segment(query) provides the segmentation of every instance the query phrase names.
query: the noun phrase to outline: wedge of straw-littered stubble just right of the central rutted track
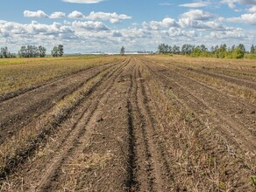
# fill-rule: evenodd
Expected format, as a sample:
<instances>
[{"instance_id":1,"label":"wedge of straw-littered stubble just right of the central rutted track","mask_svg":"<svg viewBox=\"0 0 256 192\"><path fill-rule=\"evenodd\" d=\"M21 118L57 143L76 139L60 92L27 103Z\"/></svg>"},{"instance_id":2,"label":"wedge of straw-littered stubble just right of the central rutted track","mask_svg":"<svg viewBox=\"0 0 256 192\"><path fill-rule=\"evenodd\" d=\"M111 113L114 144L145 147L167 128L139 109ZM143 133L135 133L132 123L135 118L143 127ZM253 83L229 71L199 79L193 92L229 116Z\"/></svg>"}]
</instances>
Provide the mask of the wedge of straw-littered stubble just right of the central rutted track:
<instances>
[{"instance_id":1,"label":"wedge of straw-littered stubble just right of the central rutted track","mask_svg":"<svg viewBox=\"0 0 256 192\"><path fill-rule=\"evenodd\" d=\"M253 161L235 150L208 121L201 121L174 93L160 85L150 72L149 82L160 141L174 176L174 190L232 191L252 189Z\"/></svg>"}]
</instances>

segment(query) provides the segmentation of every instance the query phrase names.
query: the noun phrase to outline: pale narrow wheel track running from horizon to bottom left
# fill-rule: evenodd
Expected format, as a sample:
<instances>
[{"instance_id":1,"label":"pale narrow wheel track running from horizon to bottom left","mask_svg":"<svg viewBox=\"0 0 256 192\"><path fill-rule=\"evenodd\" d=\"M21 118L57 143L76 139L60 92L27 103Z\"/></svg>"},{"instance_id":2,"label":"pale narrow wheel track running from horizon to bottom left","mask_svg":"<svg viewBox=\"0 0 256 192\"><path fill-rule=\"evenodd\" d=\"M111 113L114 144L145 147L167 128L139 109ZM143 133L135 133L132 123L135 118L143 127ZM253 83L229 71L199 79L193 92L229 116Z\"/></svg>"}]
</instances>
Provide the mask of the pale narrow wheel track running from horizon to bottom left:
<instances>
[{"instance_id":1,"label":"pale narrow wheel track running from horizon to bottom left","mask_svg":"<svg viewBox=\"0 0 256 192\"><path fill-rule=\"evenodd\" d=\"M45 174L41 176L40 182L35 188L36 190L46 191L51 189L53 187L53 181L57 180L61 164L68 159L70 155L75 153L74 150L78 150L75 148L75 143L81 137L86 137L89 140L93 134L93 130L90 130L89 125L92 123L93 119L96 118L97 107L106 96L106 93L110 91L113 86L113 82L117 79L118 73L120 73L127 64L128 62L125 62L125 64L119 66L116 71L111 72L103 84L94 92L94 97L96 97L96 99L87 99L89 103L85 106L82 105L85 107L84 112L80 116L79 120L75 122L75 125L73 125L71 133L68 134L68 138L65 139L58 149L60 154L53 156L53 161L47 166ZM97 90L100 89L100 87L104 87L103 91L97 93Z\"/></svg>"}]
</instances>

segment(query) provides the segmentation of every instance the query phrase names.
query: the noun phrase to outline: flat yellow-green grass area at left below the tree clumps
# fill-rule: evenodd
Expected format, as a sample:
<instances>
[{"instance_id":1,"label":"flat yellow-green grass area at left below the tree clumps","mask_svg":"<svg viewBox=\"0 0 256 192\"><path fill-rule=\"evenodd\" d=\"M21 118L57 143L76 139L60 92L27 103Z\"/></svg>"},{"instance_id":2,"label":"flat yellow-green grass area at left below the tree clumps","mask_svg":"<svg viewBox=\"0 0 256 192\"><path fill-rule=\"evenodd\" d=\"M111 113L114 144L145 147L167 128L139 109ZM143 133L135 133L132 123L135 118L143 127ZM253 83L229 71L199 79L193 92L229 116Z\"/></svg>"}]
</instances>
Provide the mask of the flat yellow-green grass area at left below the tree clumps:
<instances>
[{"instance_id":1,"label":"flat yellow-green grass area at left below the tree clumps","mask_svg":"<svg viewBox=\"0 0 256 192\"><path fill-rule=\"evenodd\" d=\"M0 96L110 63L118 57L10 58L0 60Z\"/></svg>"}]
</instances>

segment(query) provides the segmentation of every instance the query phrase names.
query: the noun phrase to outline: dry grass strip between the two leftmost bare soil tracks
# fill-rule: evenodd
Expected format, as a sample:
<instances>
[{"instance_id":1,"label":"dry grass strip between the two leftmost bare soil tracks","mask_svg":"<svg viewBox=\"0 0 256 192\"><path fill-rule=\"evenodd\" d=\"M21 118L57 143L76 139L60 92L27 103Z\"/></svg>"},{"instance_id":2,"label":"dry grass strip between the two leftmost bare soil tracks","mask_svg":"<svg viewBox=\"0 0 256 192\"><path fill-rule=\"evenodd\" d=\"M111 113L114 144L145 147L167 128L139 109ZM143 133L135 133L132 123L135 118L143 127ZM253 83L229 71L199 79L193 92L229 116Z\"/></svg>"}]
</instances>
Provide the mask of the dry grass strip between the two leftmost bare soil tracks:
<instances>
[{"instance_id":1,"label":"dry grass strip between the two leftmost bare soil tracks","mask_svg":"<svg viewBox=\"0 0 256 192\"><path fill-rule=\"evenodd\" d=\"M75 93L56 103L50 113L43 114L36 125L21 127L17 134L5 141L0 146L0 175L5 175L16 164L24 161L111 70L110 68L90 79Z\"/></svg>"}]
</instances>

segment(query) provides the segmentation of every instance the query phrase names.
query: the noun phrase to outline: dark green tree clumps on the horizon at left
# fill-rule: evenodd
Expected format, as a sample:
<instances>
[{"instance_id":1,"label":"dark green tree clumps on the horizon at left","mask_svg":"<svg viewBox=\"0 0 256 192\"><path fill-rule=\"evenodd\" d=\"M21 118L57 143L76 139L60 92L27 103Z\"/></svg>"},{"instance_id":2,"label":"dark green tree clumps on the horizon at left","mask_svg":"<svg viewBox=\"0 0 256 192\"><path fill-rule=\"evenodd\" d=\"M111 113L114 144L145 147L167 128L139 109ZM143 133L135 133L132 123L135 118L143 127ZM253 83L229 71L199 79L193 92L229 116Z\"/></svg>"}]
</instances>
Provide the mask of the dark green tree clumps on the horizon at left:
<instances>
[{"instance_id":1,"label":"dark green tree clumps on the horizon at left","mask_svg":"<svg viewBox=\"0 0 256 192\"><path fill-rule=\"evenodd\" d=\"M54 46L51 54L53 57L62 57L64 55L64 46ZM38 47L35 45L21 46L18 54L11 53L6 46L0 48L0 58L16 58L17 56L19 58L45 58L46 48L42 45Z\"/></svg>"}]
</instances>

